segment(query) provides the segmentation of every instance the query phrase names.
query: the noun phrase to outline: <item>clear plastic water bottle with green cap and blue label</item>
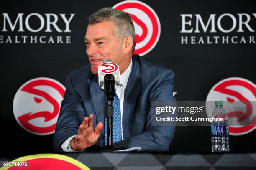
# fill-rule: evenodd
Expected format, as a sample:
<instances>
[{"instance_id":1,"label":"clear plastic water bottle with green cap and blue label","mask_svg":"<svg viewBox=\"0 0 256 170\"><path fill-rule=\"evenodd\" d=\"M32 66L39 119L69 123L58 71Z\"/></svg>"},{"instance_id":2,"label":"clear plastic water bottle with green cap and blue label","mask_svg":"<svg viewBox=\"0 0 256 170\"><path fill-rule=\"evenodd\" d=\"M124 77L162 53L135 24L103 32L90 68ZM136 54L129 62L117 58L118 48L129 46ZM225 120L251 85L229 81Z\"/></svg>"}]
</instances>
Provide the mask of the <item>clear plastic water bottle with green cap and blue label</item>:
<instances>
[{"instance_id":1,"label":"clear plastic water bottle with green cap and blue label","mask_svg":"<svg viewBox=\"0 0 256 170\"><path fill-rule=\"evenodd\" d=\"M223 109L223 101L215 101L212 118L223 118L223 121L212 121L212 152L228 152L228 117Z\"/></svg>"}]
</instances>

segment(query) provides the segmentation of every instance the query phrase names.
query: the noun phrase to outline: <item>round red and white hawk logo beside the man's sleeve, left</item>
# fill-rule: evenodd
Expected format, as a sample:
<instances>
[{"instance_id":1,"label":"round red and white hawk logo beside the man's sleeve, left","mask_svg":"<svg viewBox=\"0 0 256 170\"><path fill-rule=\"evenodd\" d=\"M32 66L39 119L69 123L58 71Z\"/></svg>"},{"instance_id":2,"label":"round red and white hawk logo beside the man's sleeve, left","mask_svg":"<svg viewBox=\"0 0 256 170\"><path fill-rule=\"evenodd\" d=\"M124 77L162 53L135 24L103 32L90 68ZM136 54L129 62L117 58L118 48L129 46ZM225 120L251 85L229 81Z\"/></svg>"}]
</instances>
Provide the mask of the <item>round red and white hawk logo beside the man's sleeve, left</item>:
<instances>
[{"instance_id":1,"label":"round red and white hawk logo beside the man's sleeve, left","mask_svg":"<svg viewBox=\"0 0 256 170\"><path fill-rule=\"evenodd\" d=\"M37 135L53 134L65 87L46 77L24 83L13 99L15 119L26 131Z\"/></svg>"}]
</instances>

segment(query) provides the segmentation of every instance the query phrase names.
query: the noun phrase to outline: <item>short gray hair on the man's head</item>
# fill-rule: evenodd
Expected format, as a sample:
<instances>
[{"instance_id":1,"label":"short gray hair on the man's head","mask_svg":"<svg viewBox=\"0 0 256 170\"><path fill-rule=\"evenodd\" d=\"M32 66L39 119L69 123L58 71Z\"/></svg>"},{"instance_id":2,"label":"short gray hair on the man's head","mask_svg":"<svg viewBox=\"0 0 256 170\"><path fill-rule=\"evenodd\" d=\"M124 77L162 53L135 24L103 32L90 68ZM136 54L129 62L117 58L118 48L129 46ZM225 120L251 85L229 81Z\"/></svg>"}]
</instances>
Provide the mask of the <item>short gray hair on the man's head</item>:
<instances>
[{"instance_id":1,"label":"short gray hair on the man's head","mask_svg":"<svg viewBox=\"0 0 256 170\"><path fill-rule=\"evenodd\" d=\"M90 25L103 21L113 21L116 28L116 36L119 39L123 39L127 36L131 36L133 38L132 53L134 52L136 44L135 29L129 13L113 9L111 7L106 7L98 10L96 13L93 13L87 19Z\"/></svg>"}]
</instances>

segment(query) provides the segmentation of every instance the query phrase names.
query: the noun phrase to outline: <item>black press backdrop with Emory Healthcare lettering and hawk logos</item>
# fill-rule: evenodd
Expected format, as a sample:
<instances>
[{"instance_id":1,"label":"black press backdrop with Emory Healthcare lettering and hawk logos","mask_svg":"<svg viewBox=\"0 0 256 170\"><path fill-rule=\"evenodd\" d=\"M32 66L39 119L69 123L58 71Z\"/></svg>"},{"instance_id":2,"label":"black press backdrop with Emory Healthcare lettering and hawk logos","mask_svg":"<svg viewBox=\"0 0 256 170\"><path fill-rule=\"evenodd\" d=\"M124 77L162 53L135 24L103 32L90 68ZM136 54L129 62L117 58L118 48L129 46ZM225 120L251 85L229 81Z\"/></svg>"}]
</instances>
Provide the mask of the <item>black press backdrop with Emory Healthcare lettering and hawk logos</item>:
<instances>
[{"instance_id":1,"label":"black press backdrop with Emory Healthcare lettering and hawk logos","mask_svg":"<svg viewBox=\"0 0 256 170\"><path fill-rule=\"evenodd\" d=\"M87 17L107 6L131 14L135 53L174 71L177 100L207 100L207 96L256 100L253 1L4 1L0 3L1 154L54 152L66 75L89 63L84 46ZM235 92L212 89L223 83ZM233 131L230 151L255 152L254 129ZM210 147L210 127L179 126L170 150L207 152Z\"/></svg>"}]
</instances>

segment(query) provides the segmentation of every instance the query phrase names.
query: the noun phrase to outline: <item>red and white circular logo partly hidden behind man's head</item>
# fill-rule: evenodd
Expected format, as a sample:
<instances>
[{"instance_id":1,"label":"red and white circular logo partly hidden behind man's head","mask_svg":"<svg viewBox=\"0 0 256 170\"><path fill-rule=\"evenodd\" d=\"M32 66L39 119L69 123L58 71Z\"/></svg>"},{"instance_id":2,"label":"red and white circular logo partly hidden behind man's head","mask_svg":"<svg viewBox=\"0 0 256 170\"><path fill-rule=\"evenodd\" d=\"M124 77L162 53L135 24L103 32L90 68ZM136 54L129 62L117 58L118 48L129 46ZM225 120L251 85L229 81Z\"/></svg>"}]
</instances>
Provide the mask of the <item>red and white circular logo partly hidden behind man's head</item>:
<instances>
[{"instance_id":1,"label":"red and white circular logo partly hidden behind man's head","mask_svg":"<svg viewBox=\"0 0 256 170\"><path fill-rule=\"evenodd\" d=\"M143 56L151 51L159 40L161 26L156 12L146 3L126 0L113 6L131 15L136 33L134 53Z\"/></svg>"}]
</instances>

